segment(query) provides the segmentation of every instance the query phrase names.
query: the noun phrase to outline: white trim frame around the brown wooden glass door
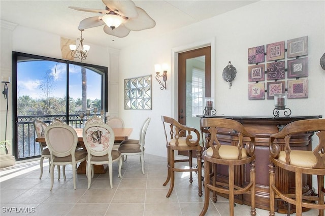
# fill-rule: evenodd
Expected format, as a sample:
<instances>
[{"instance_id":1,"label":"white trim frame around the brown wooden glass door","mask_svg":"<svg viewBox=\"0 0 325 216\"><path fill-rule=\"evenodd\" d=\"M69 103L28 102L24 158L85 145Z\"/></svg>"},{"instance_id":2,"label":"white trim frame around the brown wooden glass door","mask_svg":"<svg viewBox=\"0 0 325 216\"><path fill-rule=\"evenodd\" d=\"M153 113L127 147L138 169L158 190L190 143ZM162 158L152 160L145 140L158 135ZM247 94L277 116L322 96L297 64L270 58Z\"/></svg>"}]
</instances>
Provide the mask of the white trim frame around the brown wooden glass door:
<instances>
[{"instance_id":1,"label":"white trim frame around the brown wooden glass door","mask_svg":"<svg viewBox=\"0 0 325 216\"><path fill-rule=\"evenodd\" d=\"M178 120L178 53L186 52L189 50L199 49L202 47L211 46L211 97L214 98L215 92L215 37L206 41L200 41L193 44L188 44L172 49L172 63L171 68L173 74L171 76L171 92L172 92L172 118Z\"/></svg>"}]
</instances>

